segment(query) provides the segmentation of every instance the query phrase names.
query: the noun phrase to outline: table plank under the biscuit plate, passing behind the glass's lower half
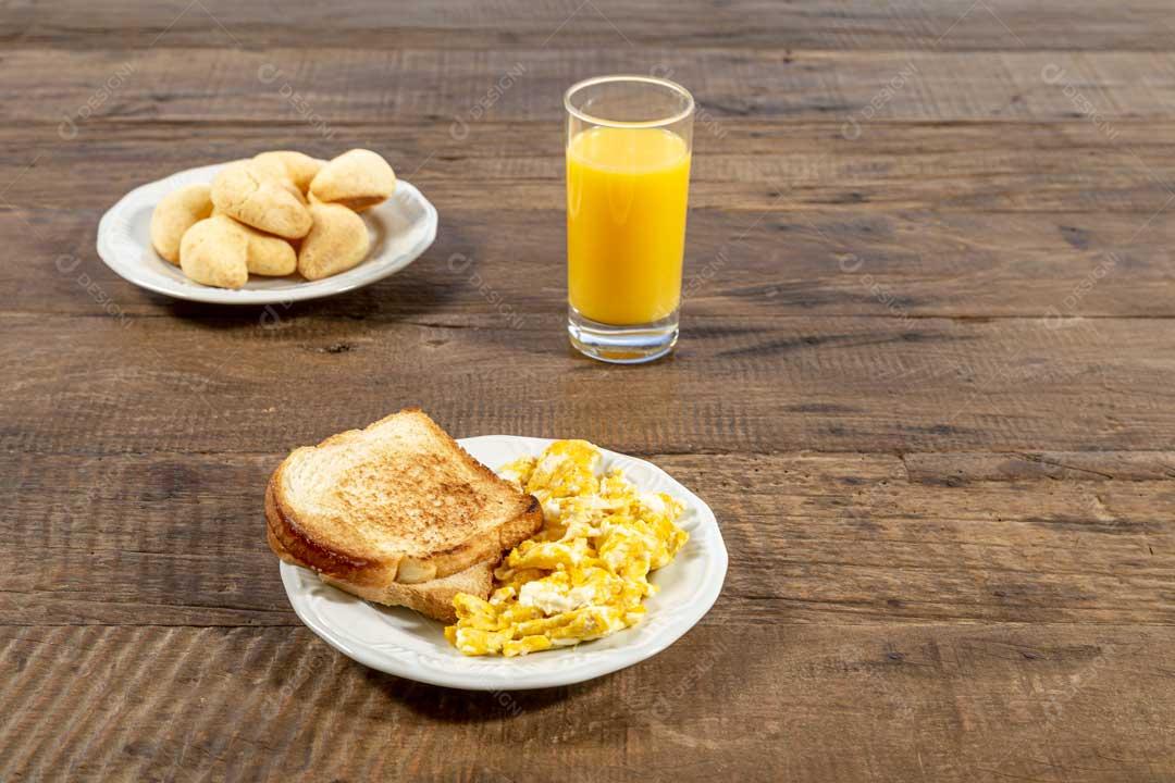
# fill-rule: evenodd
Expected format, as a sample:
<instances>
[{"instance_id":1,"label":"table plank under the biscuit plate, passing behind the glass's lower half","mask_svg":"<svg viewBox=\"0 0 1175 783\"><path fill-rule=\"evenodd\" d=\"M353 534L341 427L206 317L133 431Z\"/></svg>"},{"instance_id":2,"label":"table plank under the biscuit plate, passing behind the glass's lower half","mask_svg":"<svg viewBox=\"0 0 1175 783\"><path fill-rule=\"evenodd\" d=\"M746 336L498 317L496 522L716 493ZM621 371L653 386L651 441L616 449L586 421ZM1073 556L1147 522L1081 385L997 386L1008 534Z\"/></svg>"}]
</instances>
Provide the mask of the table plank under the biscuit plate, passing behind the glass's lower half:
<instances>
[{"instance_id":1,"label":"table plank under the biscuit plate, passing behind the glass's lower half","mask_svg":"<svg viewBox=\"0 0 1175 783\"><path fill-rule=\"evenodd\" d=\"M122 281L93 250L100 215L0 211L0 235L16 259L0 269L9 292L0 311L260 319L263 311L242 317L207 310ZM362 313L368 322L457 323L498 316L503 324L563 311L562 210L470 210L452 202L441 204L441 215L436 244L394 278L276 310L290 319ZM685 318L1018 317L1060 325L1075 316L1171 317L1175 222L1160 217L1140 231L1144 221L1113 212L694 209Z\"/></svg>"}]
</instances>

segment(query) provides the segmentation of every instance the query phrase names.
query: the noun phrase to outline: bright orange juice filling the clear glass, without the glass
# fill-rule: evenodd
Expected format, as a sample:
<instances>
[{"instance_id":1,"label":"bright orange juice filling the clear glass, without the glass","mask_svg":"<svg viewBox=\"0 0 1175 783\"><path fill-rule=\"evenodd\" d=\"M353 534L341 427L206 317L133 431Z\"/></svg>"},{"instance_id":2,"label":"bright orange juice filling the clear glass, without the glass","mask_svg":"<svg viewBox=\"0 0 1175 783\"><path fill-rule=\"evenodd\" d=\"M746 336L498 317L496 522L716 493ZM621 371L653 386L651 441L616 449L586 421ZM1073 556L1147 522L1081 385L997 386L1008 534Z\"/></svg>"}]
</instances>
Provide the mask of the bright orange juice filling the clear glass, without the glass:
<instances>
[{"instance_id":1,"label":"bright orange juice filling the clear glass, without the glass","mask_svg":"<svg viewBox=\"0 0 1175 783\"><path fill-rule=\"evenodd\" d=\"M646 324L682 296L690 148L663 128L596 127L568 144L568 296L604 324Z\"/></svg>"}]
</instances>

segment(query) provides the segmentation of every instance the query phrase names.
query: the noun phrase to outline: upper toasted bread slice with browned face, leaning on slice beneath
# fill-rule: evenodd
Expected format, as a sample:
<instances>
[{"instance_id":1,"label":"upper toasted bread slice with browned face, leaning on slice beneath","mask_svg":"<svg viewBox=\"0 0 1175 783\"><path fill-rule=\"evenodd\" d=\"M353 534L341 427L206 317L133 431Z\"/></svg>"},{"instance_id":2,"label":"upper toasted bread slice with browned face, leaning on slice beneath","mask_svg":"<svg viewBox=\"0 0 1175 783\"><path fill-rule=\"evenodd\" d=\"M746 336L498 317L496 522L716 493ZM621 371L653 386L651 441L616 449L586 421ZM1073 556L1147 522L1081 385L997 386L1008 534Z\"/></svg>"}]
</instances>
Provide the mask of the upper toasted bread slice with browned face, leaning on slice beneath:
<instances>
[{"instance_id":1,"label":"upper toasted bread slice with browned face, leaning on slice beneath","mask_svg":"<svg viewBox=\"0 0 1175 783\"><path fill-rule=\"evenodd\" d=\"M496 562L543 525L535 498L418 409L295 450L270 479L266 515L294 560L364 590Z\"/></svg>"}]
</instances>

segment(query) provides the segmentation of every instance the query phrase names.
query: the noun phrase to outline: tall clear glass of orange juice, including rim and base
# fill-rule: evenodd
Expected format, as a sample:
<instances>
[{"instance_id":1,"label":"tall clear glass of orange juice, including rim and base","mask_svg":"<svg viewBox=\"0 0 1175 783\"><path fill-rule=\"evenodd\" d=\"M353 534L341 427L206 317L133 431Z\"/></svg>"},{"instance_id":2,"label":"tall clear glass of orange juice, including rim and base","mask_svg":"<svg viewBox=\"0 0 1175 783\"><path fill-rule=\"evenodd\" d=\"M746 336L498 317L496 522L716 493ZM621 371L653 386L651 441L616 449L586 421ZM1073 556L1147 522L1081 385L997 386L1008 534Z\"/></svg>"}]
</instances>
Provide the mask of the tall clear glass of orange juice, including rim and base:
<instances>
[{"instance_id":1,"label":"tall clear glass of orange juice, including rim and base","mask_svg":"<svg viewBox=\"0 0 1175 783\"><path fill-rule=\"evenodd\" d=\"M568 332L634 364L677 343L693 96L653 76L575 85L568 113Z\"/></svg>"}]
</instances>

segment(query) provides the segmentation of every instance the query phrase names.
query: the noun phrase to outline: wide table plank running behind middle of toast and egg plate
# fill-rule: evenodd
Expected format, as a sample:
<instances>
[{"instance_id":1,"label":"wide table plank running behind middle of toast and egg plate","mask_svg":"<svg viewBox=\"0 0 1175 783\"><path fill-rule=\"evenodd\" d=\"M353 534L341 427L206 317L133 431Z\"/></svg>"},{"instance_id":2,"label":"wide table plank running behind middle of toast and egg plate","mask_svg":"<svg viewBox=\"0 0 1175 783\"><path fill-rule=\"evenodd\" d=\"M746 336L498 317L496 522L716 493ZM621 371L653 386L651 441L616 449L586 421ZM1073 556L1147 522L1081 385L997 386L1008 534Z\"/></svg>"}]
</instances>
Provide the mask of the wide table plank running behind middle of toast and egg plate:
<instances>
[{"instance_id":1,"label":"wide table plank running behind middle of toast and egg plate","mask_svg":"<svg viewBox=\"0 0 1175 783\"><path fill-rule=\"evenodd\" d=\"M15 499L0 518L0 625L297 625L262 535L283 455L22 458L0 484ZM1157 513L1175 481L1099 470L1147 464L1132 453L1080 455L1081 480L972 482L951 480L959 455L652 459L718 509L732 568L710 623L1175 625L1175 525Z\"/></svg>"}]
</instances>

